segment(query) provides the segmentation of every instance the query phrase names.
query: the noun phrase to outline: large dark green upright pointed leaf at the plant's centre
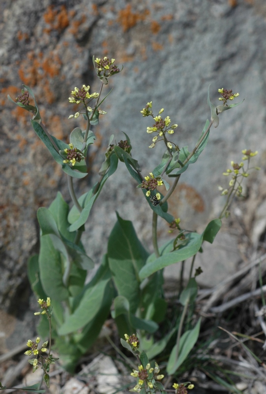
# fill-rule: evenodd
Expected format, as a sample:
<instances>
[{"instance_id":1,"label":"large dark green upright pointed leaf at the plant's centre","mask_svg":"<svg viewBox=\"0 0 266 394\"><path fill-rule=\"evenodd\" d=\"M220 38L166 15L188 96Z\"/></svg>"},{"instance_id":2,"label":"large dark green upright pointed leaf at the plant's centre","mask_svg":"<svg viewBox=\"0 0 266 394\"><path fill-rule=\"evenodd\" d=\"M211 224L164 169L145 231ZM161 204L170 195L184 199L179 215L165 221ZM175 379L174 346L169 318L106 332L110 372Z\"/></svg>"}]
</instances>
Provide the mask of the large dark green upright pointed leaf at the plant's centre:
<instances>
[{"instance_id":1,"label":"large dark green upright pointed leaf at the plant's centre","mask_svg":"<svg viewBox=\"0 0 266 394\"><path fill-rule=\"evenodd\" d=\"M135 312L140 302L139 271L148 258L148 252L139 241L130 221L118 221L108 241L108 261L118 295L125 296L130 311Z\"/></svg>"}]
</instances>

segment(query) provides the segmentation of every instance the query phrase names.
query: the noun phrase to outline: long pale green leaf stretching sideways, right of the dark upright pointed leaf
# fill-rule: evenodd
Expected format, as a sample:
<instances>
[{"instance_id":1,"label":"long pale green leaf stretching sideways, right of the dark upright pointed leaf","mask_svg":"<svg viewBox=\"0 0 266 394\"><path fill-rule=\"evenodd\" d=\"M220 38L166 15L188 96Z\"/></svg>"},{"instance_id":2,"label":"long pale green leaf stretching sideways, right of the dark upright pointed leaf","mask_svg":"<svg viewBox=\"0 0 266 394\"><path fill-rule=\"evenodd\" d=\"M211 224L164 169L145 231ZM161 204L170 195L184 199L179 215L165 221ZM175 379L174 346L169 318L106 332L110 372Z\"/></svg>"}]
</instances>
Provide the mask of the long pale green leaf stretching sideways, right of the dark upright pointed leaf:
<instances>
[{"instance_id":1,"label":"long pale green leaf stretching sideways, right of the dark upright pointed leaf","mask_svg":"<svg viewBox=\"0 0 266 394\"><path fill-rule=\"evenodd\" d=\"M159 269L165 268L168 265L172 265L183 260L187 260L188 258L194 256L202 245L203 235L196 232L191 232L187 234L186 237L188 239L188 243L186 245L181 246L178 250L160 256L153 262L146 264L140 270L140 279L143 280L148 278L148 276Z\"/></svg>"}]
</instances>

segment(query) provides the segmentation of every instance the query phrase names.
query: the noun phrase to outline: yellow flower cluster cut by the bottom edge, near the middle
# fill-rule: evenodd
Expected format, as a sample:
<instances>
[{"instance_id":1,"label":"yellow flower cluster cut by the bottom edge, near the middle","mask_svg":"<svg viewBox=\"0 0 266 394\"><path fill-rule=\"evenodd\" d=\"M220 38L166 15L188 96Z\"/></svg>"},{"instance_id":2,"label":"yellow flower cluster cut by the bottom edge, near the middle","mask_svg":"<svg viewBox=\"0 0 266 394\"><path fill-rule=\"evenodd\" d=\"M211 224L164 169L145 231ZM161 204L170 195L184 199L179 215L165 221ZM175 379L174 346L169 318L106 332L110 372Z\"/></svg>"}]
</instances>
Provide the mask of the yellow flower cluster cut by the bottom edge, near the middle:
<instances>
[{"instance_id":1,"label":"yellow flower cluster cut by the bottom edge, near the middle","mask_svg":"<svg viewBox=\"0 0 266 394\"><path fill-rule=\"evenodd\" d=\"M138 378L138 383L129 391L139 393L143 387L153 389L154 386L156 386L155 379L162 380L164 378L164 375L158 375L159 372L160 369L156 362L154 368L150 366L150 363L148 363L145 368L143 365L139 365L138 370L133 369L133 372L130 374Z\"/></svg>"}]
</instances>

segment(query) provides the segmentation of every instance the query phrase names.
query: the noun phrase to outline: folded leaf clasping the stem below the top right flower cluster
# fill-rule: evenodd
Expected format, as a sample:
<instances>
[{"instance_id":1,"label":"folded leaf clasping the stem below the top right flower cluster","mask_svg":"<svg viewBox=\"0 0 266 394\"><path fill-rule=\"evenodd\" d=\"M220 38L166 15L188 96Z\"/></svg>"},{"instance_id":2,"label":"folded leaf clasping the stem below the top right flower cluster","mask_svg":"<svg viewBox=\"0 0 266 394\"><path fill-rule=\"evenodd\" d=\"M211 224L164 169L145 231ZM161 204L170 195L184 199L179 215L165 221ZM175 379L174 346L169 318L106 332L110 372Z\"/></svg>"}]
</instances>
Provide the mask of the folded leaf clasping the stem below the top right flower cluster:
<instances>
[{"instance_id":1,"label":"folded leaf clasping the stem below the top right flower cluster","mask_svg":"<svg viewBox=\"0 0 266 394\"><path fill-rule=\"evenodd\" d=\"M200 136L198 142L200 141L200 139L202 138L202 136L206 132L208 126L209 126L209 121L207 120L206 124L205 124L205 127L204 127L204 129L203 129L203 131L201 133L201 136ZM205 138L203 139L203 141L199 145L198 149L196 150L194 155L189 159L189 161L185 165L181 166L181 164L179 164L178 161L173 158L172 162L168 166L168 170L166 171L166 173L170 177L171 176L177 176L177 175L182 174L187 169L189 164L196 163L196 161L198 160L200 154L203 152L204 148L207 145L208 137L209 137L209 132L207 132ZM189 151L187 149L187 146L184 146L179 152L179 161L181 163L184 163L184 161L188 158L189 155L190 155L190 153L189 153Z\"/></svg>"}]
</instances>

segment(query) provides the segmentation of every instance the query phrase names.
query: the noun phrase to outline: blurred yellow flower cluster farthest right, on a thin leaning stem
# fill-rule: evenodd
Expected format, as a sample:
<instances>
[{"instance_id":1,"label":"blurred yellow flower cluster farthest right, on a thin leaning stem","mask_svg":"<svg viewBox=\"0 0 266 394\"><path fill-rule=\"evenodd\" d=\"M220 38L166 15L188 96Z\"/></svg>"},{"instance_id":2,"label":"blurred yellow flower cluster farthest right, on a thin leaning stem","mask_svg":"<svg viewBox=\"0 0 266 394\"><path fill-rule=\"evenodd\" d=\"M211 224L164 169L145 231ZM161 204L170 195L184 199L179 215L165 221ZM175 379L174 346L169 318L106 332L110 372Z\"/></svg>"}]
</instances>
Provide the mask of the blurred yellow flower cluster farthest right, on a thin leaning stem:
<instances>
[{"instance_id":1,"label":"blurred yellow flower cluster farthest right, on a thin leaning stem","mask_svg":"<svg viewBox=\"0 0 266 394\"><path fill-rule=\"evenodd\" d=\"M256 152L252 152L250 149L244 149L242 150L242 154L244 155L242 160L248 160L248 164L249 164L249 160L251 157L256 156L258 154L258 151ZM235 163L235 162L231 162L231 166L232 168L228 168L226 170L226 172L223 172L224 176L229 176L230 174L232 174L232 177L229 181L229 188L224 189L222 186L219 186L218 189L221 191L221 196L225 196L228 193L233 193L233 191L236 192L236 196L237 197L242 197L242 186L241 186L241 181L238 181L239 177L244 177L247 178L249 176L249 173L247 172L250 168L249 166L247 166L247 168L244 168L244 163L240 162ZM255 169L260 169L259 167L254 167Z\"/></svg>"}]
</instances>

